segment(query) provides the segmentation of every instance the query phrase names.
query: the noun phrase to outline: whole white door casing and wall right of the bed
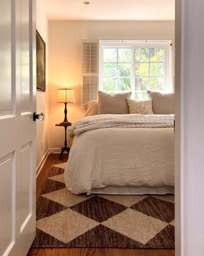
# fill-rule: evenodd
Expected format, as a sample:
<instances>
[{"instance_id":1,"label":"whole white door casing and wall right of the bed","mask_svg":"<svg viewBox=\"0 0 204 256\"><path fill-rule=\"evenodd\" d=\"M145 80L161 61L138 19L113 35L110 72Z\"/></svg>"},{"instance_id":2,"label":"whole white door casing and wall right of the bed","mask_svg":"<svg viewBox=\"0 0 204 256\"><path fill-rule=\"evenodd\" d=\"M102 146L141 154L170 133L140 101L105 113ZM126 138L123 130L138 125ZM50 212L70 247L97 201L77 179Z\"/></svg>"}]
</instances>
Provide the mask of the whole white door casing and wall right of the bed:
<instances>
[{"instance_id":1,"label":"whole white door casing and wall right of the bed","mask_svg":"<svg viewBox=\"0 0 204 256\"><path fill-rule=\"evenodd\" d=\"M203 9L176 1L176 256L204 255Z\"/></svg>"}]
</instances>

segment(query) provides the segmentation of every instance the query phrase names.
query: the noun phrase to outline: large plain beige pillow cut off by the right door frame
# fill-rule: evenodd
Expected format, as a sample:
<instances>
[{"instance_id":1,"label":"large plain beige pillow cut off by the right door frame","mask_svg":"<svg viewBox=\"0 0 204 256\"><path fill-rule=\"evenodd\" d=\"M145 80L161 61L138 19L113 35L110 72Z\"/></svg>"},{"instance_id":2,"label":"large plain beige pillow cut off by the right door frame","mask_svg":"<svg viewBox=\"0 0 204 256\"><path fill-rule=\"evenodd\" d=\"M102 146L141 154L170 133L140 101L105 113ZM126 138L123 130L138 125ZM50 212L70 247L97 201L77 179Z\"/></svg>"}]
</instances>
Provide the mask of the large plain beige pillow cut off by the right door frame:
<instances>
[{"instance_id":1,"label":"large plain beige pillow cut off by the right door frame","mask_svg":"<svg viewBox=\"0 0 204 256\"><path fill-rule=\"evenodd\" d=\"M148 98L152 99L152 110L155 115L174 114L174 92L147 91L147 94Z\"/></svg>"}]
</instances>

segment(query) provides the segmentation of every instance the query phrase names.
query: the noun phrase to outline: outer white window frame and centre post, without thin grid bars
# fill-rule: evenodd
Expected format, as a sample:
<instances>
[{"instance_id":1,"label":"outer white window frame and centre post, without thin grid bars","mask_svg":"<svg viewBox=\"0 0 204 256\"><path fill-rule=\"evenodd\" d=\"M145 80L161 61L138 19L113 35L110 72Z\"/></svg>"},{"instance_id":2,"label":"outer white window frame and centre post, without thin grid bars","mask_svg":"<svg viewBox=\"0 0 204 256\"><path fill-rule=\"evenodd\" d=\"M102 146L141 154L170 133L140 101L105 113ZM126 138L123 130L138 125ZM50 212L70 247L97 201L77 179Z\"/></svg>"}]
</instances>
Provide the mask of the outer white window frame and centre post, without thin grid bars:
<instances>
[{"instance_id":1,"label":"outer white window frame and centre post, without thin grid bars","mask_svg":"<svg viewBox=\"0 0 204 256\"><path fill-rule=\"evenodd\" d=\"M164 88L173 91L172 39L164 40L99 40L99 90L103 91L103 50L105 48L132 48L132 99L135 98L135 48L164 48Z\"/></svg>"}]
</instances>

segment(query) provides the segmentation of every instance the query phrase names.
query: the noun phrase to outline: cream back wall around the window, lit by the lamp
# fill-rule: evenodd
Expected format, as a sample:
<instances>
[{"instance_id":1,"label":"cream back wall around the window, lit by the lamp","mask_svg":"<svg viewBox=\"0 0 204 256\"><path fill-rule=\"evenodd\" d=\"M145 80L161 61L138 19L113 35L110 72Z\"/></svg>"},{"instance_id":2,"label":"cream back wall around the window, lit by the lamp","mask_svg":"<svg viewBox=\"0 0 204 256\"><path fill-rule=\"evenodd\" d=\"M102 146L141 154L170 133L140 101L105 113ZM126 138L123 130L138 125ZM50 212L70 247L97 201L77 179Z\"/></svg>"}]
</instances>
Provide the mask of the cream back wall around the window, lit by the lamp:
<instances>
[{"instance_id":1,"label":"cream back wall around the window, lit by the lamp","mask_svg":"<svg viewBox=\"0 0 204 256\"><path fill-rule=\"evenodd\" d=\"M77 103L67 104L70 122L84 116L80 107L81 39L174 39L174 21L49 21L49 148L61 148L64 104L58 88L75 89Z\"/></svg>"}]
</instances>

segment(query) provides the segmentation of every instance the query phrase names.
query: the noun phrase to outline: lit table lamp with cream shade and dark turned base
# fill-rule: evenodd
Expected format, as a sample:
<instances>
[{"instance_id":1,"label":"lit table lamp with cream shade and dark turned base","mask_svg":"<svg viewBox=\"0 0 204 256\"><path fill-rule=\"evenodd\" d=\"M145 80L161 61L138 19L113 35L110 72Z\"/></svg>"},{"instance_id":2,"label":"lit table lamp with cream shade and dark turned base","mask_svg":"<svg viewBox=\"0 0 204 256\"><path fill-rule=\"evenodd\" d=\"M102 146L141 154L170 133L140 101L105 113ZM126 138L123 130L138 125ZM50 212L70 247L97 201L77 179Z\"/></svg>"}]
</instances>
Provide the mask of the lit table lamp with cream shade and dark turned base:
<instances>
[{"instance_id":1,"label":"lit table lamp with cream shade and dark turned base","mask_svg":"<svg viewBox=\"0 0 204 256\"><path fill-rule=\"evenodd\" d=\"M60 124L71 125L71 123L67 121L67 103L76 103L74 89L57 89L57 103L65 103L65 120Z\"/></svg>"}]
</instances>

